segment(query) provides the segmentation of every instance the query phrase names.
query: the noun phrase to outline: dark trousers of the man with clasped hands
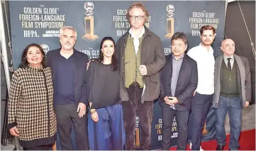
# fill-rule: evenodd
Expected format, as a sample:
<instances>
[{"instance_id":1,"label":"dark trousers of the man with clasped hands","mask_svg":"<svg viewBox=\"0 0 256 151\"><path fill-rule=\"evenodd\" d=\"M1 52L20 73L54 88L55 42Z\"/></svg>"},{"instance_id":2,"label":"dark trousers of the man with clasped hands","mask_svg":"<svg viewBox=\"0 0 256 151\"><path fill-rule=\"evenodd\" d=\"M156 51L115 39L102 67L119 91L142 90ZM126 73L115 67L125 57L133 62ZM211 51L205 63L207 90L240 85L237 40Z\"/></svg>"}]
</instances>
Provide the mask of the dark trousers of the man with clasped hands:
<instances>
[{"instance_id":1,"label":"dark trousers of the man with clasped hands","mask_svg":"<svg viewBox=\"0 0 256 151\"><path fill-rule=\"evenodd\" d=\"M166 106L162 106L162 150L169 150L174 115L178 128L177 150L186 150L189 111L177 111Z\"/></svg>"}]
</instances>

